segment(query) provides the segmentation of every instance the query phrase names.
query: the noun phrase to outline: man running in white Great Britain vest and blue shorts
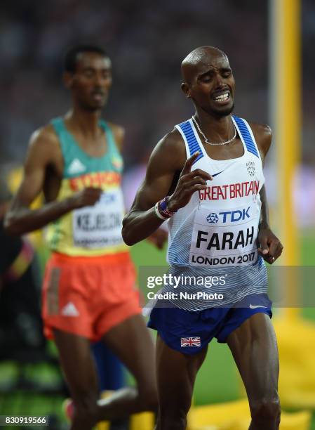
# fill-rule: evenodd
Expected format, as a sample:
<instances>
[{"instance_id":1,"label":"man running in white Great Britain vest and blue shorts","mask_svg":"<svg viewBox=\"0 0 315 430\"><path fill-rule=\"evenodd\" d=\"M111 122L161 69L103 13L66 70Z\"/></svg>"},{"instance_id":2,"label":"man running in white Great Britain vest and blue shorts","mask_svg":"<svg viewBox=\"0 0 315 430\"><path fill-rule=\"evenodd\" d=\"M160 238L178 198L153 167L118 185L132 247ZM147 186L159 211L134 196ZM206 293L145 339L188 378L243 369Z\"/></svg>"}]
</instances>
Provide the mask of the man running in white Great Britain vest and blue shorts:
<instances>
[{"instance_id":1,"label":"man running in white Great Britain vest and blue shorts","mask_svg":"<svg viewBox=\"0 0 315 430\"><path fill-rule=\"evenodd\" d=\"M204 46L189 53L182 77L194 117L156 145L123 220L123 238L132 245L169 219L170 275L200 275L205 281L181 282L177 297L157 301L150 316L149 327L159 332L157 429L185 429L196 372L213 337L227 342L239 367L250 429L278 429L279 361L263 261L273 263L282 250L269 228L263 185L271 131L232 117L235 82L219 49ZM206 285L210 275L213 283ZM167 280L163 293L172 291ZM185 300L187 292L203 296Z\"/></svg>"}]
</instances>

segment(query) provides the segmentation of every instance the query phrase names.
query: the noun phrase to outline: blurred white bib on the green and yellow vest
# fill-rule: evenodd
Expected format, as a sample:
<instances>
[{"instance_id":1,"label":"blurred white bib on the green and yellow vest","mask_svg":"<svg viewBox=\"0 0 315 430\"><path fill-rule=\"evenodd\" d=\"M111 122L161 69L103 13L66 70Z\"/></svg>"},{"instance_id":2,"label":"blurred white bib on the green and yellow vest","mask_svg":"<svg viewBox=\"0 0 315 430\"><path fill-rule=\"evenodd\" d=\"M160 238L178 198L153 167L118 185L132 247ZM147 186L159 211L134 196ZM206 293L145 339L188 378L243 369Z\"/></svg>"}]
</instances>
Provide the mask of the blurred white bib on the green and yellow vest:
<instances>
[{"instance_id":1,"label":"blurred white bib on the green and yellow vest","mask_svg":"<svg viewBox=\"0 0 315 430\"><path fill-rule=\"evenodd\" d=\"M83 207L73 212L74 245L91 249L121 245L123 216L121 190L102 193L94 206Z\"/></svg>"}]
</instances>

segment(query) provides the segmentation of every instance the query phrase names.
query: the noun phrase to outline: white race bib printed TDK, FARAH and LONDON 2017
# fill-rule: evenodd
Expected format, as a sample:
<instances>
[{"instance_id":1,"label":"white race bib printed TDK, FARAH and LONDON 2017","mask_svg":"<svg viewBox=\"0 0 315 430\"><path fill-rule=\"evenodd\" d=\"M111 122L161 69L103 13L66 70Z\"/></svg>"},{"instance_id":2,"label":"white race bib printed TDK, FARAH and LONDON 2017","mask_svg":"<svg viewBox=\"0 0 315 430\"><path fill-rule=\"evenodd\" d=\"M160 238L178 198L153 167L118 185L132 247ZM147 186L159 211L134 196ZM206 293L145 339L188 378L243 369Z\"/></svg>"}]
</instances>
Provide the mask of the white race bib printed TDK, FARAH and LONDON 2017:
<instances>
[{"instance_id":1,"label":"white race bib printed TDK, FARAH and LONDON 2017","mask_svg":"<svg viewBox=\"0 0 315 430\"><path fill-rule=\"evenodd\" d=\"M257 261L260 207L244 205L232 211L200 206L196 210L189 264L243 266Z\"/></svg>"}]
</instances>

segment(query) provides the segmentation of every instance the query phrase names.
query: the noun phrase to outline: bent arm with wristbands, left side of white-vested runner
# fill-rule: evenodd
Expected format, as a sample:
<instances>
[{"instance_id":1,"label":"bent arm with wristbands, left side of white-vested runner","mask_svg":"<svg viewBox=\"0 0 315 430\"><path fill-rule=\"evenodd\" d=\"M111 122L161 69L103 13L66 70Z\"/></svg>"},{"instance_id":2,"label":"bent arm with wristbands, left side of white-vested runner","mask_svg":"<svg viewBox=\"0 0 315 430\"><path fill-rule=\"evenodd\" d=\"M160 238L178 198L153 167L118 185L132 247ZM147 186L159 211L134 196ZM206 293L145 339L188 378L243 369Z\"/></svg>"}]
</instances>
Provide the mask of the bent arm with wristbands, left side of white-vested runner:
<instances>
[{"instance_id":1,"label":"bent arm with wristbands, left side of white-vested runner","mask_svg":"<svg viewBox=\"0 0 315 430\"><path fill-rule=\"evenodd\" d=\"M151 235L163 223L156 216L154 205L170 193L175 173L182 171L174 192L170 195L168 209L177 211L184 207L196 190L206 188L206 180L211 176L199 169L191 171L198 154L186 160L185 146L177 132L164 137L149 159L145 181L140 186L129 213L123 219L123 240L127 245Z\"/></svg>"}]
</instances>

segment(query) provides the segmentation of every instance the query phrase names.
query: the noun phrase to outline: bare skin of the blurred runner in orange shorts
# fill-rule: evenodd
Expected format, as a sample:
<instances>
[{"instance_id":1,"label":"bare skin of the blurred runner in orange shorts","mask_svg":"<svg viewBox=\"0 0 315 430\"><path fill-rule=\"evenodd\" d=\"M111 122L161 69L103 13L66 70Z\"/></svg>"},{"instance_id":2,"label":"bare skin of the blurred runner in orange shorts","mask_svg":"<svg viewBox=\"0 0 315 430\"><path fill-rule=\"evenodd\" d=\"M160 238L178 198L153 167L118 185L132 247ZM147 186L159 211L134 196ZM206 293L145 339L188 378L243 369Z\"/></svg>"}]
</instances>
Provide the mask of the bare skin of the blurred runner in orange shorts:
<instances>
[{"instance_id":1,"label":"bare skin of the blurred runner in orange shorts","mask_svg":"<svg viewBox=\"0 0 315 430\"><path fill-rule=\"evenodd\" d=\"M88 155L102 157L107 151L107 139L98 122L112 85L111 61L99 53L81 53L77 57L75 72L65 73L64 82L72 93L72 110L65 116L67 129ZM123 129L115 124L107 124L121 150ZM62 152L53 126L35 131L29 144L24 179L6 216L6 229L9 232L23 234L42 228L69 211L93 205L99 200L102 193L100 188L85 188L66 200L55 201L63 169ZM46 204L40 209L29 209L41 191ZM161 244L161 238L157 242ZM74 400L72 430L88 430L103 419L121 418L142 410L156 410L154 344L142 316L128 318L102 338L137 382L136 389L118 391L106 402L98 400L98 377L90 341L62 330L53 332L62 369Z\"/></svg>"}]
</instances>

